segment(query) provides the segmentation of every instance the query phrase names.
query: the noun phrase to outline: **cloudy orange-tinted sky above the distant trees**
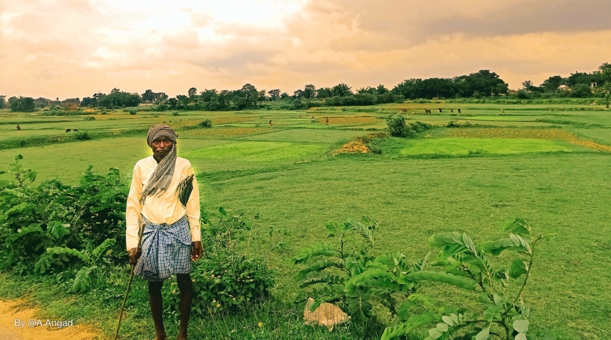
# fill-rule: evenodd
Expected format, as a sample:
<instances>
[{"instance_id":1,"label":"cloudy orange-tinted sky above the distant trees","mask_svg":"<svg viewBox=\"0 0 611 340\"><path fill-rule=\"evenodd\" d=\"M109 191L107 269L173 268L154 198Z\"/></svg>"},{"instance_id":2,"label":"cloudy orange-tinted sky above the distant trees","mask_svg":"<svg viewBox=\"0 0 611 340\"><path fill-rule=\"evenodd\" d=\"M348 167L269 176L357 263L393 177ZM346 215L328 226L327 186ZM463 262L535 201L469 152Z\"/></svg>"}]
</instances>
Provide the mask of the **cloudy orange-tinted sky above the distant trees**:
<instances>
[{"instance_id":1,"label":"cloudy orange-tinted sky above the distant trees","mask_svg":"<svg viewBox=\"0 0 611 340\"><path fill-rule=\"evenodd\" d=\"M609 0L0 0L0 95L280 89L611 62Z\"/></svg>"}]
</instances>

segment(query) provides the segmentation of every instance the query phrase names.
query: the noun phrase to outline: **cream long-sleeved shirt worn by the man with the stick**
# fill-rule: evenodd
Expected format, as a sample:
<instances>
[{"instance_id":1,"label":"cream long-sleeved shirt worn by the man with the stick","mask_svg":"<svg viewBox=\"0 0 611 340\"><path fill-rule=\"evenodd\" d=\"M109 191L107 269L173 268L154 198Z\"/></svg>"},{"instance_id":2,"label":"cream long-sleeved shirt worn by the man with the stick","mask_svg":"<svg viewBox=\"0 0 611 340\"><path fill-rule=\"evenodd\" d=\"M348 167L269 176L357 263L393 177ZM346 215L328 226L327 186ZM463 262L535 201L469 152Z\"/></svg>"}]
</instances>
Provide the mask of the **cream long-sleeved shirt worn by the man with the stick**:
<instances>
[{"instance_id":1,"label":"cream long-sleeved shirt worn by the man with the stick","mask_svg":"<svg viewBox=\"0 0 611 340\"><path fill-rule=\"evenodd\" d=\"M195 177L193 177L193 191L191 191L191 196L189 196L186 209L178 199L178 183L185 179L185 177L194 174L191 163L185 158L176 158L174 176L172 176L172 182L170 182L167 191L164 191L160 196L157 196L158 193L147 196L144 205L140 204L142 190L146 187L148 179L150 179L156 167L157 161L153 156L137 161L134 166L130 194L127 197L127 208L125 211L125 243L128 250L136 248L138 245L138 230L142 223L141 215L152 223L172 224L186 214L189 228L191 229L191 240L193 242L201 240L199 187L197 187Z\"/></svg>"}]
</instances>

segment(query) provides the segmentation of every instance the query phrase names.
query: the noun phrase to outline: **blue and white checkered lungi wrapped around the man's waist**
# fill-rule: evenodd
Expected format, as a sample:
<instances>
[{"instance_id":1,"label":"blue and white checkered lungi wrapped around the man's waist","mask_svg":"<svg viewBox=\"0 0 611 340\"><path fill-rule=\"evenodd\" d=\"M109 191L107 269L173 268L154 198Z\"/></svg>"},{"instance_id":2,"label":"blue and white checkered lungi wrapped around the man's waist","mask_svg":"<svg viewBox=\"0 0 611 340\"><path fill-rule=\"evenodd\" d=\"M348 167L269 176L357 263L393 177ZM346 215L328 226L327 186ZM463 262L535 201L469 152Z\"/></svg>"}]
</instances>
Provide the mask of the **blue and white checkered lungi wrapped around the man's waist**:
<instances>
[{"instance_id":1,"label":"blue and white checkered lungi wrapped around the man's waist","mask_svg":"<svg viewBox=\"0 0 611 340\"><path fill-rule=\"evenodd\" d=\"M163 281L172 274L191 273L191 230L187 216L172 224L155 224L144 216L142 255L134 268L148 281Z\"/></svg>"}]
</instances>

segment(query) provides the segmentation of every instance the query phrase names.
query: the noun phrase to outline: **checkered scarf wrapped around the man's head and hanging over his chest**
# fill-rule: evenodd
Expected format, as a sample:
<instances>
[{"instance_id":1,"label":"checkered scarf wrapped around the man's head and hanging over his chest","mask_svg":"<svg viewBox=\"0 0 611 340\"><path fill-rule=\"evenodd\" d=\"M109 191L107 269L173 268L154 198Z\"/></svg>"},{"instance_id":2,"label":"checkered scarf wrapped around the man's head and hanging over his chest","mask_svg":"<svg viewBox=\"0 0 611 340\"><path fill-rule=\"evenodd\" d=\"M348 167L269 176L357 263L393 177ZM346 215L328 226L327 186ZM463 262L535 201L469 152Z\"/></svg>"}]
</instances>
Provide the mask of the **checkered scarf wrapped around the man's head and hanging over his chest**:
<instances>
[{"instance_id":1,"label":"checkered scarf wrapped around the man's head and hanging over his chest","mask_svg":"<svg viewBox=\"0 0 611 340\"><path fill-rule=\"evenodd\" d=\"M170 186L172 176L174 176L174 168L176 167L176 138L178 135L173 128L167 126L166 124L153 125L148 129L148 146L152 146L153 141L159 137L167 137L170 139L170 141L174 142L174 144L172 144L172 150L170 150L170 153L168 153L166 157L164 157L159 164L157 164L157 168L155 168L155 171L153 171L150 179L148 179L147 187L142 191L143 205L147 196L155 193L161 194L166 191Z\"/></svg>"}]
</instances>

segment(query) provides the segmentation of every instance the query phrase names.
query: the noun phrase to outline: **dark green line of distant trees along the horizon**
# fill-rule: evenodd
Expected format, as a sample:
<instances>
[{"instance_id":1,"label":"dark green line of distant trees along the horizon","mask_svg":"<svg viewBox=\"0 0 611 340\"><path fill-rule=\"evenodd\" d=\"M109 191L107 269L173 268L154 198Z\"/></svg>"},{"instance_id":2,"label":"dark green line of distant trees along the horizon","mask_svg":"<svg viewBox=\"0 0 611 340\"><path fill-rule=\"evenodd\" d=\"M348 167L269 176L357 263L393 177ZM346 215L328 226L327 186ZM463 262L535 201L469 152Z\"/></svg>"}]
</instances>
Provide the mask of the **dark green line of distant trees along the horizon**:
<instances>
[{"instance_id":1,"label":"dark green line of distant trees along the horizon","mask_svg":"<svg viewBox=\"0 0 611 340\"><path fill-rule=\"evenodd\" d=\"M126 108L141 103L156 104L155 110L166 109L233 111L242 109L265 108L273 103L280 109L304 109L314 106L375 105L381 103L401 103L406 99L418 98L483 98L508 95L516 98L536 97L605 97L609 107L611 94L611 64L604 63L593 72L575 72L569 76L550 76L539 86L532 81L522 82L518 91L510 90L508 84L490 70L480 70L470 75L453 78L411 78L402 81L392 89L379 84L375 87L360 87L353 90L345 83L333 87L316 87L307 84L292 95L280 89L258 90L252 84L244 84L240 89L204 89L198 93L191 87L186 95L170 98L164 92L147 89L142 95L120 91L114 88L109 94L97 93L92 97L68 98L59 101L46 98L11 97L5 100L0 95L0 108L9 106L12 111L32 112L36 108L78 109L89 108Z\"/></svg>"}]
</instances>

